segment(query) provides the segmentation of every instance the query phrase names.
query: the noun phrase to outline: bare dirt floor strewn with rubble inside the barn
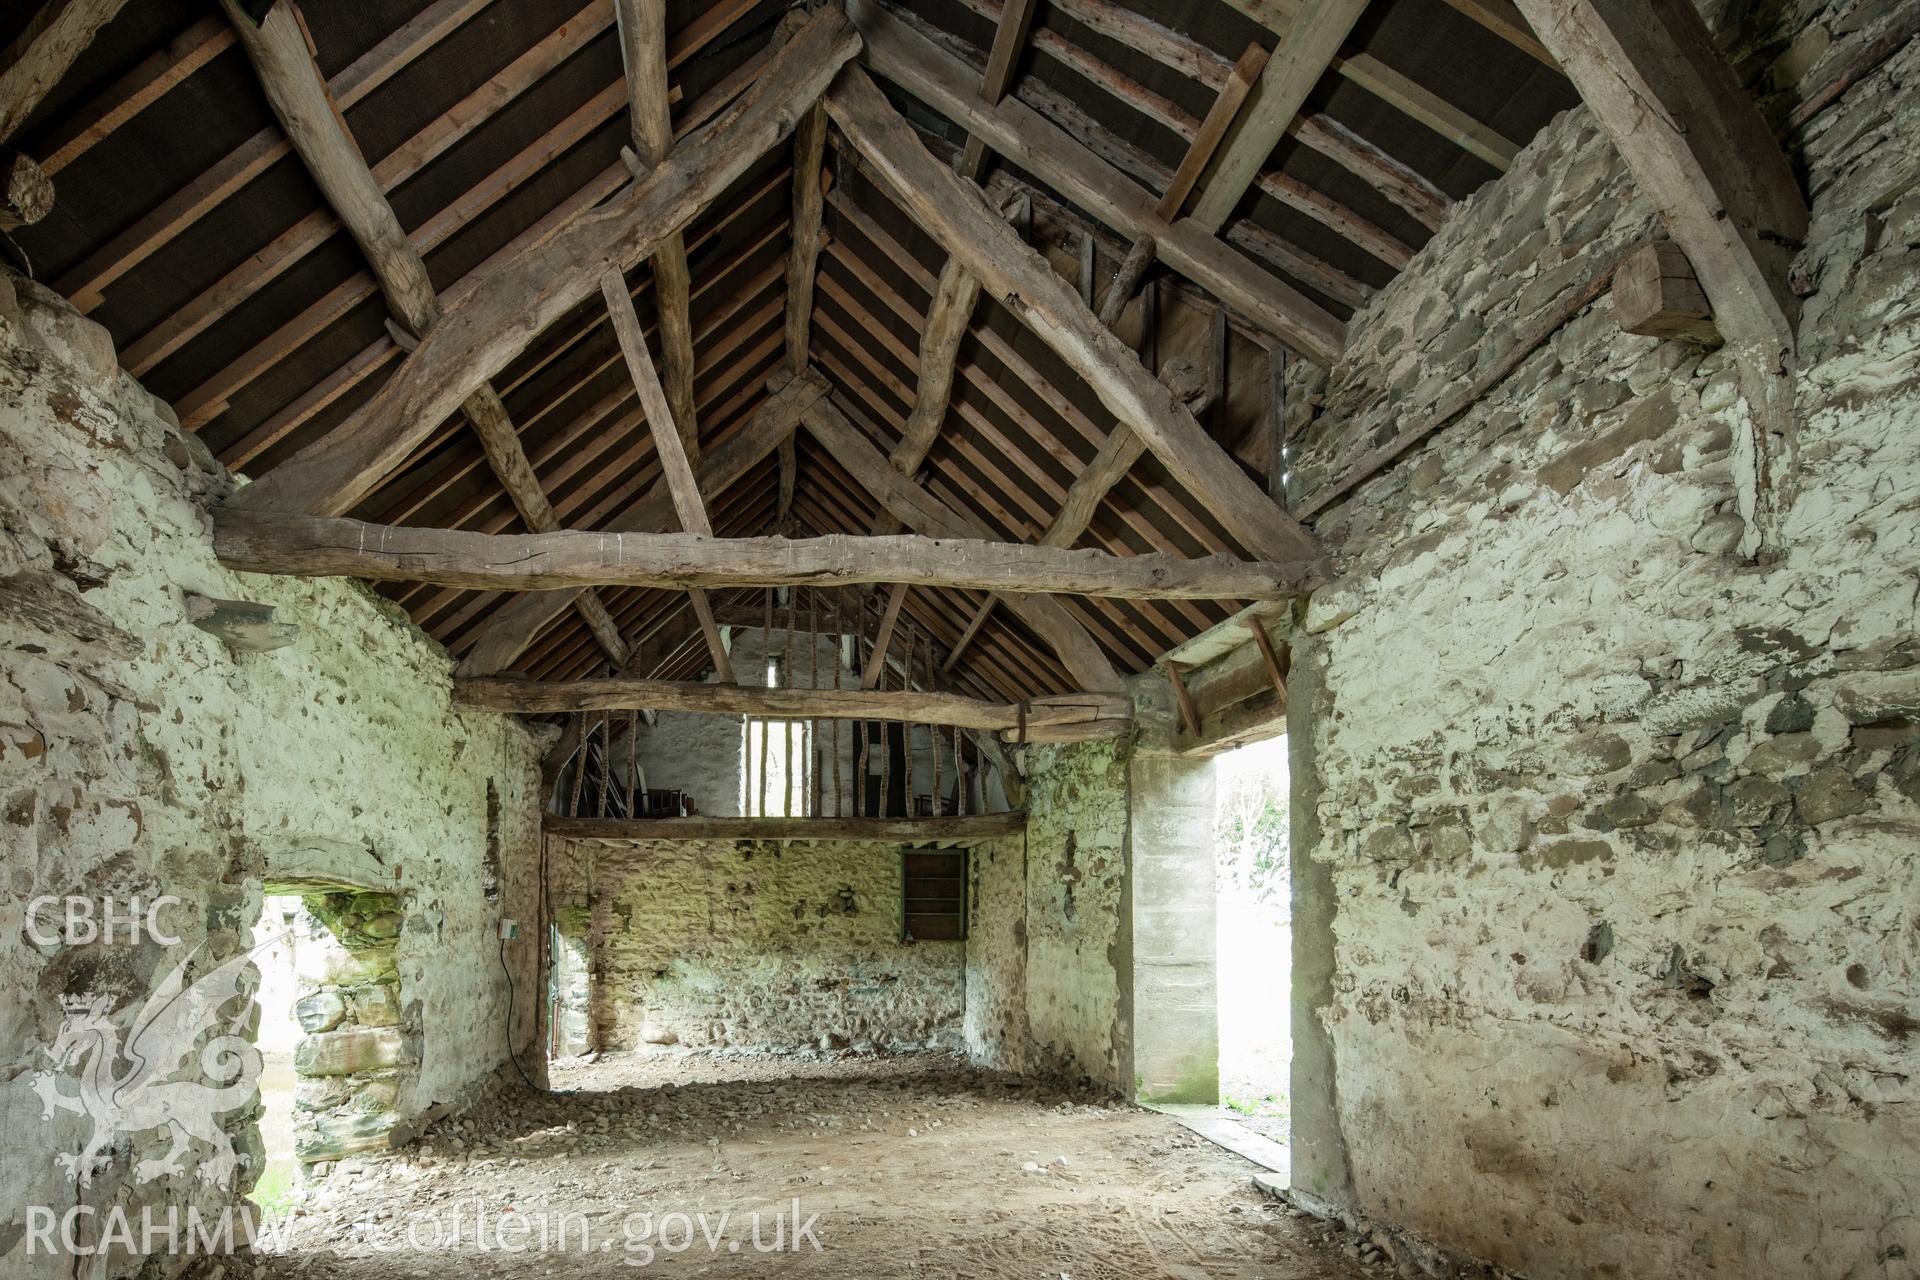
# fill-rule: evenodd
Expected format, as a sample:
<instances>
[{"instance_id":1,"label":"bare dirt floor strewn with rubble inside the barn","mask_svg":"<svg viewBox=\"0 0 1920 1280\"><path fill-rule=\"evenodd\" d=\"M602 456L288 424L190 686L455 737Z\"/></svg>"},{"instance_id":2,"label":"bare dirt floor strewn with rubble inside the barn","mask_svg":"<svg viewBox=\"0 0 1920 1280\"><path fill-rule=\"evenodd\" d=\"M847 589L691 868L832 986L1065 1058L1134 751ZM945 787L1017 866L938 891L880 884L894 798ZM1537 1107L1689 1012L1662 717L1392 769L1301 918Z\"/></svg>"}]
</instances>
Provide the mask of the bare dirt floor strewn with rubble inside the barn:
<instances>
[{"instance_id":1,"label":"bare dirt floor strewn with rubble inside the barn","mask_svg":"<svg viewBox=\"0 0 1920 1280\"><path fill-rule=\"evenodd\" d=\"M505 1094L413 1150L342 1161L255 1274L1392 1274L1164 1115L952 1057L662 1054L553 1084L568 1092Z\"/></svg>"}]
</instances>

